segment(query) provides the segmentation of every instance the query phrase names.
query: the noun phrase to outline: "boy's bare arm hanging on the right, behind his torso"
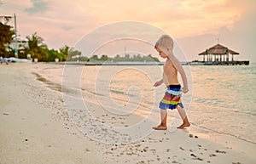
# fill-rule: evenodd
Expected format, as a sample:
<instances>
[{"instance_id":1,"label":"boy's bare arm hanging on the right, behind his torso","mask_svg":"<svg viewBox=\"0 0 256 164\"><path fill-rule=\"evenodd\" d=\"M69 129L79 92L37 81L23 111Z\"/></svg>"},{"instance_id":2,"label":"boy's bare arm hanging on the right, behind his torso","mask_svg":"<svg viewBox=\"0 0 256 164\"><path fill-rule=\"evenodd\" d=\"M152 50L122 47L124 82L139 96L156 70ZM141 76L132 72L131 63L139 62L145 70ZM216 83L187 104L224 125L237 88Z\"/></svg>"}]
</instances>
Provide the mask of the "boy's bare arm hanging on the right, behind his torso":
<instances>
[{"instance_id":1,"label":"boy's bare arm hanging on the right, behind his torso","mask_svg":"<svg viewBox=\"0 0 256 164\"><path fill-rule=\"evenodd\" d=\"M170 54L168 56L169 56L169 59L172 61L172 65L174 65L174 67L180 73L180 75L182 77L182 80L183 80L183 93L189 92L187 76L186 76L185 71L183 70L183 66L180 64L180 62L177 60L177 58L173 54Z\"/></svg>"}]
</instances>

